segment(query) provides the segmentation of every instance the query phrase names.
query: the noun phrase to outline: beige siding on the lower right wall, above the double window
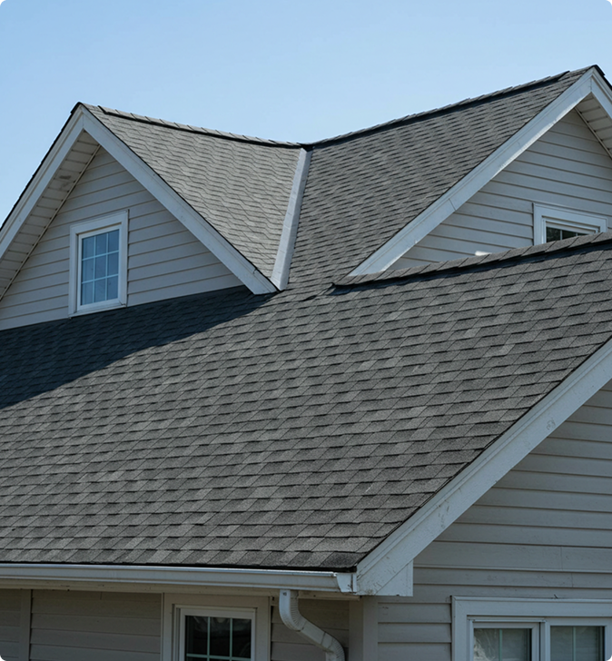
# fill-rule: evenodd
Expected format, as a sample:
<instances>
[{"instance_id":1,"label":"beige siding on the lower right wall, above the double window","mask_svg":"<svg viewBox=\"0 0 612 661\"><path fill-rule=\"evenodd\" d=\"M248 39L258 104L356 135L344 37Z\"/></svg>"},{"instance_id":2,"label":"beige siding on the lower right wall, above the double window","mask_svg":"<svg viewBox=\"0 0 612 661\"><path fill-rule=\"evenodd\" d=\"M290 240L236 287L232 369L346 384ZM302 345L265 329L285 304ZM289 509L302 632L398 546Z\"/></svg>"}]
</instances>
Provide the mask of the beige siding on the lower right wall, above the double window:
<instances>
[{"instance_id":1,"label":"beige siding on the lower right wall, above the double window","mask_svg":"<svg viewBox=\"0 0 612 661\"><path fill-rule=\"evenodd\" d=\"M415 560L380 599L380 659L450 661L450 597L612 598L612 382Z\"/></svg>"}]
</instances>

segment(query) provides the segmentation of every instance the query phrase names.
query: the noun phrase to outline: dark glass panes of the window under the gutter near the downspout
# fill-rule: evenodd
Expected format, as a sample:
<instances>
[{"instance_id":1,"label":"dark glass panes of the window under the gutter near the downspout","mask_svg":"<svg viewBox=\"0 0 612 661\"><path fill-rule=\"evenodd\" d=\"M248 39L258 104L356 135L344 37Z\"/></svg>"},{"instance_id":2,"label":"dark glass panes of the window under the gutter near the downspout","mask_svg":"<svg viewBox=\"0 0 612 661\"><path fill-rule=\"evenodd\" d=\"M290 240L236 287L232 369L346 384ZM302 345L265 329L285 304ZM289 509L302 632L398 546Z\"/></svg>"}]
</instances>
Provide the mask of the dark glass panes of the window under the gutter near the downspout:
<instances>
[{"instance_id":1,"label":"dark glass panes of the window under the gutter near the downspout","mask_svg":"<svg viewBox=\"0 0 612 661\"><path fill-rule=\"evenodd\" d=\"M186 615L184 660L252 661L252 619Z\"/></svg>"}]
</instances>

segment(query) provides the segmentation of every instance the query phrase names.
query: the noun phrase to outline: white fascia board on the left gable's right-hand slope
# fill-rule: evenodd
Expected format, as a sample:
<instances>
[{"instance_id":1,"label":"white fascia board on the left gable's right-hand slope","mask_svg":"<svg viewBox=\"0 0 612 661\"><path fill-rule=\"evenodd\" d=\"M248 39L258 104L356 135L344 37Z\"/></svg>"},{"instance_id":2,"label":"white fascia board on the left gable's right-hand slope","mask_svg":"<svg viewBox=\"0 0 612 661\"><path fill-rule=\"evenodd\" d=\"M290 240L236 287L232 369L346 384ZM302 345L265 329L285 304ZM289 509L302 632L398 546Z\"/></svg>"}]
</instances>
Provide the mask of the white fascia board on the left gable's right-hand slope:
<instances>
[{"instance_id":1,"label":"white fascia board on the left gable's right-hand slope","mask_svg":"<svg viewBox=\"0 0 612 661\"><path fill-rule=\"evenodd\" d=\"M163 181L153 168L143 162L122 140L108 129L92 113L84 108L84 130L100 143L113 158L132 174L154 198L182 222L185 228L199 239L217 259L245 284L254 294L277 291L276 287L248 261L232 243L223 238L200 213Z\"/></svg>"}]
</instances>

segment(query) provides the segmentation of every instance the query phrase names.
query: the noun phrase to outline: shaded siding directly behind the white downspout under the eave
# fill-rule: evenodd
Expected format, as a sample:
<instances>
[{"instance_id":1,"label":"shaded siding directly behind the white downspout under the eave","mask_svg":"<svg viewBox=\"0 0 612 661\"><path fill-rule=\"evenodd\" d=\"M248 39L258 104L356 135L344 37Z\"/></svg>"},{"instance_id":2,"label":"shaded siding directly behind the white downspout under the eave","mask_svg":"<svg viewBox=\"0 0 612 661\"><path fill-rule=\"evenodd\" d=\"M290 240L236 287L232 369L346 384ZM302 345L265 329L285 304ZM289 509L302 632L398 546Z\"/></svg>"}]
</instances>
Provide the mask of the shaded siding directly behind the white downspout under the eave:
<instances>
[{"instance_id":1,"label":"shaded siding directly behind the white downspout under the eave","mask_svg":"<svg viewBox=\"0 0 612 661\"><path fill-rule=\"evenodd\" d=\"M303 617L336 638L345 650L349 646L349 602L300 599ZM325 661L321 648L282 624L277 607L272 607L271 661Z\"/></svg>"}]
</instances>

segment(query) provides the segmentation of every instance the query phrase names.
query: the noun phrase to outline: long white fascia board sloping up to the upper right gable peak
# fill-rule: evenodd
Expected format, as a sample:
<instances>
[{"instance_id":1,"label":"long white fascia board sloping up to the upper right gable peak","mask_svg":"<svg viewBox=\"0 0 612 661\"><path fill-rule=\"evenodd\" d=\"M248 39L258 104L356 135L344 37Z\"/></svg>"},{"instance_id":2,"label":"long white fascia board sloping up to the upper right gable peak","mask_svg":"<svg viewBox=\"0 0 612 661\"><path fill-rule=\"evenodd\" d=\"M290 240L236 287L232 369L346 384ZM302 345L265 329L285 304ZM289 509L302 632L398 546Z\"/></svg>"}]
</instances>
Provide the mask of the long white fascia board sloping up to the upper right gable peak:
<instances>
[{"instance_id":1,"label":"long white fascia board sloping up to the upper right gable peak","mask_svg":"<svg viewBox=\"0 0 612 661\"><path fill-rule=\"evenodd\" d=\"M390 241L373 252L370 257L350 272L350 275L366 275L386 271L390 265L420 242L425 236L445 221L452 212L468 202L472 195L489 183L509 163L535 143L563 116L577 106L591 92L591 80L597 72L589 69L576 83L571 85L555 101L548 104L536 117L491 153L482 163L438 198L424 212L410 221Z\"/></svg>"}]
</instances>

